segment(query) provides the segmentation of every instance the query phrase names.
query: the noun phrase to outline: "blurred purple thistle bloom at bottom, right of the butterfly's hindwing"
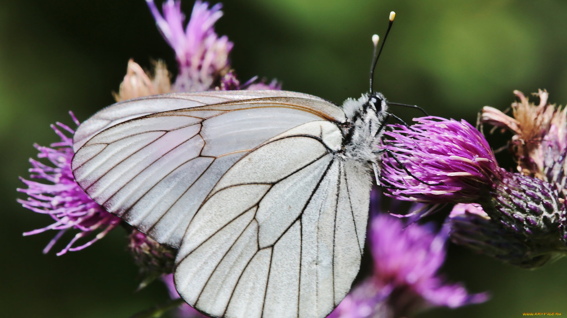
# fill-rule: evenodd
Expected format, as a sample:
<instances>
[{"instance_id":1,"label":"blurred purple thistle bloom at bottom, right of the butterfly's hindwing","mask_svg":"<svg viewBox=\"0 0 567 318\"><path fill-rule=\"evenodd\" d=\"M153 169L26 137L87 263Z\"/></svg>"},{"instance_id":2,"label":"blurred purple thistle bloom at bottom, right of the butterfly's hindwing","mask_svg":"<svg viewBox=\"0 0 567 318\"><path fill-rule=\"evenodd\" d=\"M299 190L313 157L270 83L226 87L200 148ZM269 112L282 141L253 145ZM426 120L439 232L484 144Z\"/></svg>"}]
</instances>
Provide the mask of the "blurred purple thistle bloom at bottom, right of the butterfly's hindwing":
<instances>
[{"instance_id":1,"label":"blurred purple thistle bloom at bottom, right of the butterfly's hindwing","mask_svg":"<svg viewBox=\"0 0 567 318\"><path fill-rule=\"evenodd\" d=\"M460 283L437 274L445 261L447 230L410 224L378 214L369 230L373 276L357 286L331 318L397 318L432 306L456 308L481 303L486 294L468 294Z\"/></svg>"}]
</instances>

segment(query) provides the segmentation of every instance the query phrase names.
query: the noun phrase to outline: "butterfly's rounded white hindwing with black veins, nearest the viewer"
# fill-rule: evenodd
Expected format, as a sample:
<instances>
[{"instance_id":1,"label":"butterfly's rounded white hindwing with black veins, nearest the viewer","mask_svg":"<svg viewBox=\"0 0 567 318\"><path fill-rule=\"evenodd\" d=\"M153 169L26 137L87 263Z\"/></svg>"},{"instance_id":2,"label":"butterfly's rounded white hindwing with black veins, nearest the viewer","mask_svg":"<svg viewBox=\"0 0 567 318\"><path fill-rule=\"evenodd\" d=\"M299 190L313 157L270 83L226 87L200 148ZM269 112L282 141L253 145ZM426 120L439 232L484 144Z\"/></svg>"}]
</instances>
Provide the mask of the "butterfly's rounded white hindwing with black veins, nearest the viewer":
<instances>
[{"instance_id":1,"label":"butterfly's rounded white hindwing with black veins, nearest the viewer","mask_svg":"<svg viewBox=\"0 0 567 318\"><path fill-rule=\"evenodd\" d=\"M189 304L218 317L324 317L337 306L361 260L337 138L335 124L309 122L227 171L177 255Z\"/></svg>"}]
</instances>

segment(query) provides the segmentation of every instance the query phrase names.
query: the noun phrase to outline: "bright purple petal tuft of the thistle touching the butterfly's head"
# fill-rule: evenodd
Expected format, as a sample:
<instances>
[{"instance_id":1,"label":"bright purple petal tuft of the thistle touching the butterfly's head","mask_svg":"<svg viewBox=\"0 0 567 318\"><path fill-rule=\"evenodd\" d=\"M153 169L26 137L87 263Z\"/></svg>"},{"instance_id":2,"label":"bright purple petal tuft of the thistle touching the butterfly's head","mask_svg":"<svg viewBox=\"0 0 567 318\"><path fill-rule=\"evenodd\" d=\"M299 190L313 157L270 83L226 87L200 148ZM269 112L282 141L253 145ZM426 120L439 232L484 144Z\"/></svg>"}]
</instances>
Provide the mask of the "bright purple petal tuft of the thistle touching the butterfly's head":
<instances>
[{"instance_id":1,"label":"bright purple petal tuft of the thistle touching the butterfly's head","mask_svg":"<svg viewBox=\"0 0 567 318\"><path fill-rule=\"evenodd\" d=\"M414 119L410 128L390 125L385 148L424 184L406 173L389 154L382 160L382 181L393 196L424 203L472 203L500 178L494 153L484 136L466 121L440 117Z\"/></svg>"}]
</instances>

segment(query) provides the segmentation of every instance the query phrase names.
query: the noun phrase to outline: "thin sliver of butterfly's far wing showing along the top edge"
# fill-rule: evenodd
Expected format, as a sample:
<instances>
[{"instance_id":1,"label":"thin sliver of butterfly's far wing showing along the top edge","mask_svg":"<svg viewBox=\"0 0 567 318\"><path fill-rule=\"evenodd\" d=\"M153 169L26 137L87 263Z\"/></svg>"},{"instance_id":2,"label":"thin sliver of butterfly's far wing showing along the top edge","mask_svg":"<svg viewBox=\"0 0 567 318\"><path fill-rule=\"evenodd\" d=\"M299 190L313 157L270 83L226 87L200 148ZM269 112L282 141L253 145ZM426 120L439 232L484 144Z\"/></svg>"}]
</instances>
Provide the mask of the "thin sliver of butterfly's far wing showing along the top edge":
<instances>
[{"instance_id":1,"label":"thin sliver of butterfly's far wing showing along the top edge","mask_svg":"<svg viewBox=\"0 0 567 318\"><path fill-rule=\"evenodd\" d=\"M96 114L92 115L91 118L87 119L87 121L84 121L73 136L73 148L74 151L77 152L78 149L94 135L116 124L128 121L129 119L168 110L266 97L296 97L326 102L322 98L310 94L272 90L172 93L135 98L133 100L117 102L107 108L101 109Z\"/></svg>"}]
</instances>

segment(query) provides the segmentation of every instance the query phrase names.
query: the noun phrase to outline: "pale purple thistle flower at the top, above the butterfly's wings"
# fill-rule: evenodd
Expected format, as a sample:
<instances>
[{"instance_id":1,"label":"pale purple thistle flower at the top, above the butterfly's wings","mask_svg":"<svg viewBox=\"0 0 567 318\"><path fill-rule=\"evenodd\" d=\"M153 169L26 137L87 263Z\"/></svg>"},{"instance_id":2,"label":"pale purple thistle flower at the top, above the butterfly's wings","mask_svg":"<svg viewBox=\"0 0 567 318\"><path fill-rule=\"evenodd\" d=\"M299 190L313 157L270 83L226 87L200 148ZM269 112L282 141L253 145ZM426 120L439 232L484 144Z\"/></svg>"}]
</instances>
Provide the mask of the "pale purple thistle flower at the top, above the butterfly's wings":
<instances>
[{"instance_id":1,"label":"pale purple thistle flower at the top, above the butterfly's wings","mask_svg":"<svg viewBox=\"0 0 567 318\"><path fill-rule=\"evenodd\" d=\"M213 87L222 72L230 68L229 53L232 42L227 36L218 37L214 23L222 16L221 3L209 9L208 2L196 1L187 27L181 2L163 3L163 16L153 0L146 0L159 31L175 50L179 75L174 84L176 92L206 91Z\"/></svg>"}]
</instances>

